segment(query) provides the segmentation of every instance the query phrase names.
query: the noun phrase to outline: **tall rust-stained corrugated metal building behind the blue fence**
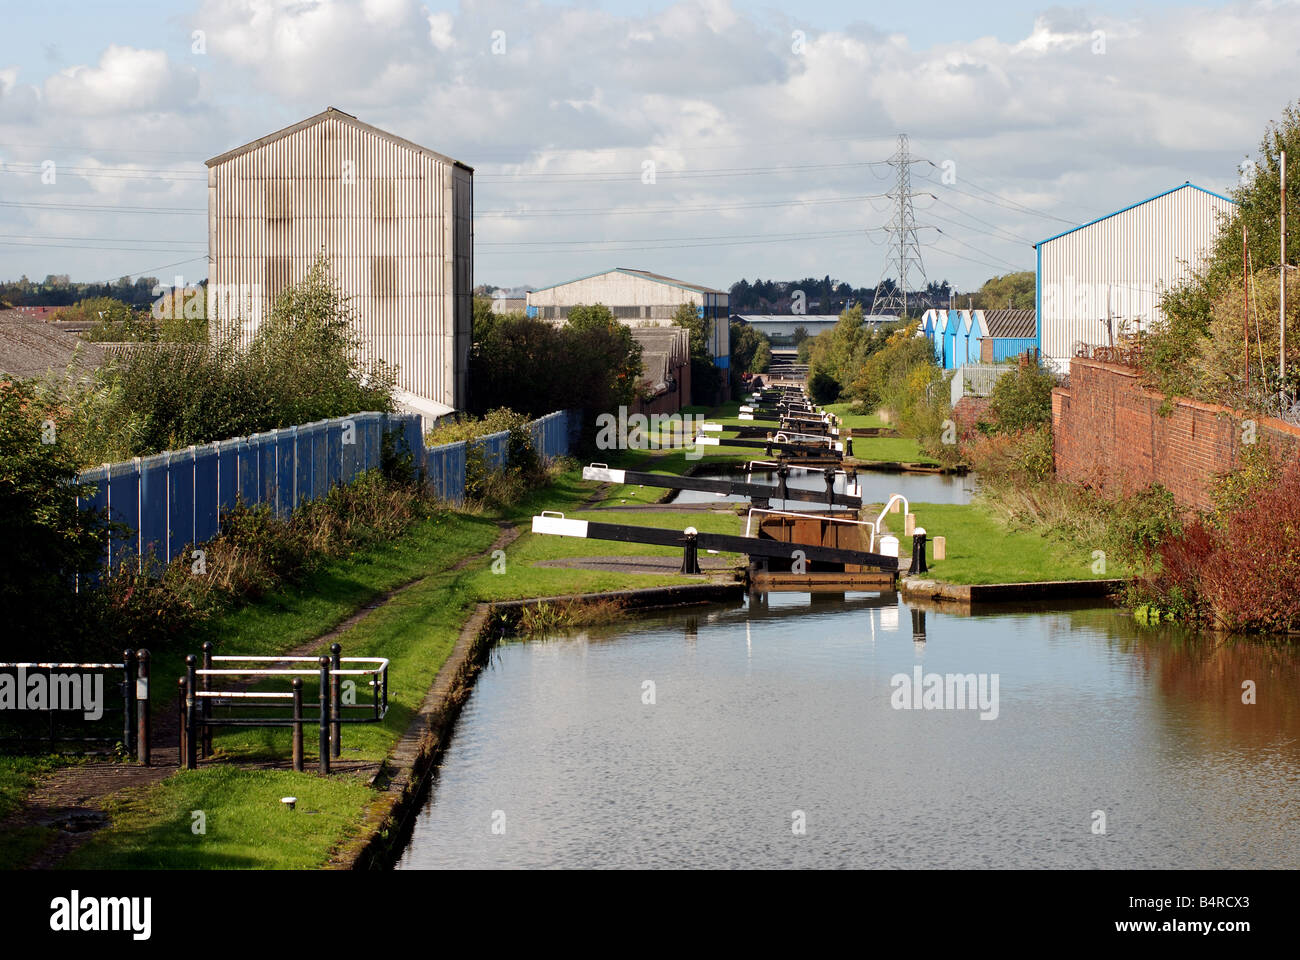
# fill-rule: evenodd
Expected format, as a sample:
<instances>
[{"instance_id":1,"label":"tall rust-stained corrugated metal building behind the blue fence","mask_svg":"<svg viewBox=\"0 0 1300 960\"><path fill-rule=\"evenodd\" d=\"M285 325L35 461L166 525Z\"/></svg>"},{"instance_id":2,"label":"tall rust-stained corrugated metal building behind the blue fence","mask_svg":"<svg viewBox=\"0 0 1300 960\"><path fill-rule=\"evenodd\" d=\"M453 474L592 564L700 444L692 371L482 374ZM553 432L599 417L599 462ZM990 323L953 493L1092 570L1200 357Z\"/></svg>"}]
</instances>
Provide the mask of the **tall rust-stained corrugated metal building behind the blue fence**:
<instances>
[{"instance_id":1,"label":"tall rust-stained corrugated metal building behind the blue fence","mask_svg":"<svg viewBox=\"0 0 1300 960\"><path fill-rule=\"evenodd\" d=\"M333 107L208 160L218 324L247 340L318 252L351 298L367 356L398 368L399 398L425 414L463 408L473 169Z\"/></svg>"}]
</instances>

